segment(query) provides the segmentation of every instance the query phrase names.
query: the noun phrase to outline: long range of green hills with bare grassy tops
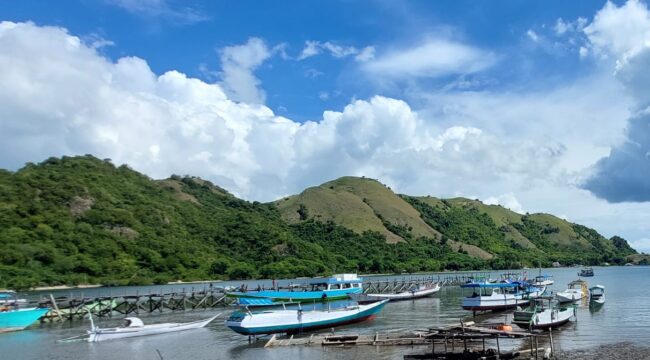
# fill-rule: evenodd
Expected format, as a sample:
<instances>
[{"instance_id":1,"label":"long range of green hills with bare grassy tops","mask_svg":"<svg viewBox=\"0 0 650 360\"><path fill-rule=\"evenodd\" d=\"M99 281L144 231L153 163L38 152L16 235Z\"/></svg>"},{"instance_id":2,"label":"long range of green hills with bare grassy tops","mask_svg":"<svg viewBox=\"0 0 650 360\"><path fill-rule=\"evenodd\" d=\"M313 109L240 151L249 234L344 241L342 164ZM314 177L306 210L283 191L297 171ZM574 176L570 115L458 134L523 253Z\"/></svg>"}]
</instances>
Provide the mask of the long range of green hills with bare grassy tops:
<instances>
[{"instance_id":1,"label":"long range of green hills with bare grassy tops","mask_svg":"<svg viewBox=\"0 0 650 360\"><path fill-rule=\"evenodd\" d=\"M548 214L344 177L273 203L90 155L0 170L0 288L622 263L619 237Z\"/></svg>"}]
</instances>

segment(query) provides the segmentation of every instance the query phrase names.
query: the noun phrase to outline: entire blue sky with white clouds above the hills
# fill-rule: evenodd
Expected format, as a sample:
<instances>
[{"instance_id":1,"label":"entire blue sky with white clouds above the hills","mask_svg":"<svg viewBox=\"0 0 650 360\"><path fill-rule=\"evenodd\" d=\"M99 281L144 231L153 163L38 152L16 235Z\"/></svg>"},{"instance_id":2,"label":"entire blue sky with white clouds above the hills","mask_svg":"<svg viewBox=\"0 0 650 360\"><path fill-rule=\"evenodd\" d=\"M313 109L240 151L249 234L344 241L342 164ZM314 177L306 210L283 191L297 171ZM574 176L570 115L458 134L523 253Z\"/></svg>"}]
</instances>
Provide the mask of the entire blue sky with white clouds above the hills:
<instances>
[{"instance_id":1,"label":"entire blue sky with white clouds above the hills","mask_svg":"<svg viewBox=\"0 0 650 360\"><path fill-rule=\"evenodd\" d=\"M650 251L629 1L0 0L0 168L93 154L271 201L344 176Z\"/></svg>"}]
</instances>

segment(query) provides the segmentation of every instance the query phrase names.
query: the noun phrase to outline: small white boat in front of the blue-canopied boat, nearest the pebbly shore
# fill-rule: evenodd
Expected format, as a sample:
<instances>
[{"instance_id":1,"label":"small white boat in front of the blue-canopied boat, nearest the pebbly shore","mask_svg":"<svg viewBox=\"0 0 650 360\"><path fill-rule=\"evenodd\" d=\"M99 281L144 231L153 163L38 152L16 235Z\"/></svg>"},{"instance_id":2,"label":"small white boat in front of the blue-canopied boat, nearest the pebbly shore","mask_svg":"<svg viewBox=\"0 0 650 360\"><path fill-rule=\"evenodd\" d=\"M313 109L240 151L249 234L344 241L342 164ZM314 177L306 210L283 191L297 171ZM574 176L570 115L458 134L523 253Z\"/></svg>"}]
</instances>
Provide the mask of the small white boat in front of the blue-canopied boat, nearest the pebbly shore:
<instances>
[{"instance_id":1,"label":"small white boat in front of the blue-canopied boat, nearest the pebbly shore","mask_svg":"<svg viewBox=\"0 0 650 360\"><path fill-rule=\"evenodd\" d=\"M524 310L515 311L513 323L524 329L548 329L566 324L575 316L575 308L561 307L552 297L537 298Z\"/></svg>"}]
</instances>

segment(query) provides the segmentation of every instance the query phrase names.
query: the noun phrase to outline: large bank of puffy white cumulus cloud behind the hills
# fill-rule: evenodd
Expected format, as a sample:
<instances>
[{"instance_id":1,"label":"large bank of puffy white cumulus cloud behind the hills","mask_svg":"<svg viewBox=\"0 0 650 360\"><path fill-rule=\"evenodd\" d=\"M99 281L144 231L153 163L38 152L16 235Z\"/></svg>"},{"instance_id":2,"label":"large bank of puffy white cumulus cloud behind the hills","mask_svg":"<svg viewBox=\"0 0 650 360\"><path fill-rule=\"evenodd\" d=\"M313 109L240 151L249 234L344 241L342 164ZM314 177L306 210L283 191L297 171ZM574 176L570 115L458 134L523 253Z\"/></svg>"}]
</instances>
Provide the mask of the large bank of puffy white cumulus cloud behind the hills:
<instances>
[{"instance_id":1,"label":"large bank of puffy white cumulus cloud behind the hills","mask_svg":"<svg viewBox=\"0 0 650 360\"><path fill-rule=\"evenodd\" d=\"M541 175L558 156L474 127L438 130L381 96L318 121L278 116L260 103L253 70L269 51L255 38L221 52L220 84L158 75L136 57L113 61L59 27L0 23L0 48L0 165L10 169L92 153L153 177L193 174L272 200L342 175L445 194Z\"/></svg>"}]
</instances>

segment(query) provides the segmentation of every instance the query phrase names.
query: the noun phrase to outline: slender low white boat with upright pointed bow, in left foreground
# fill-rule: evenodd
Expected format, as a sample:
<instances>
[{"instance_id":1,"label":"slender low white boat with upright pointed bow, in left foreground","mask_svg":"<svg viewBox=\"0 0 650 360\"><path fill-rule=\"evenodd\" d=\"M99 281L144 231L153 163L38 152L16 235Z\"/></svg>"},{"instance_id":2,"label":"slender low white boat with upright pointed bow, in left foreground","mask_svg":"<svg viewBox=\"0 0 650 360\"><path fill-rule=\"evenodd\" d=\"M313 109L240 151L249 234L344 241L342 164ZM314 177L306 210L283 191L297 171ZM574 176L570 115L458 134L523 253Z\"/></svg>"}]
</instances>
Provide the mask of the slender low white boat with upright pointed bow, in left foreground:
<instances>
[{"instance_id":1,"label":"slender low white boat with upright pointed bow, in left foreground","mask_svg":"<svg viewBox=\"0 0 650 360\"><path fill-rule=\"evenodd\" d=\"M126 324L124 326L105 329L96 327L91 316L91 328L87 331L88 342L124 339L136 336L158 335L177 331L198 329L205 327L219 315L221 314L217 314L209 319L192 321L188 323L163 323L152 325L143 324L142 320L138 319L137 317L127 317L124 319L126 320Z\"/></svg>"}]
</instances>

